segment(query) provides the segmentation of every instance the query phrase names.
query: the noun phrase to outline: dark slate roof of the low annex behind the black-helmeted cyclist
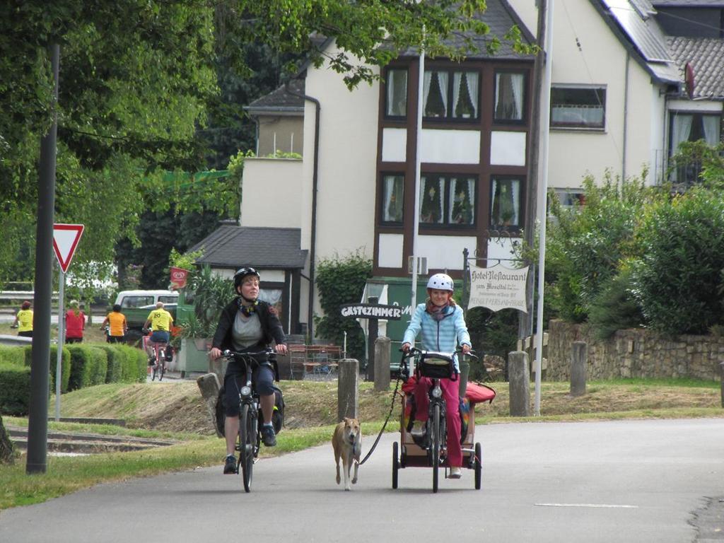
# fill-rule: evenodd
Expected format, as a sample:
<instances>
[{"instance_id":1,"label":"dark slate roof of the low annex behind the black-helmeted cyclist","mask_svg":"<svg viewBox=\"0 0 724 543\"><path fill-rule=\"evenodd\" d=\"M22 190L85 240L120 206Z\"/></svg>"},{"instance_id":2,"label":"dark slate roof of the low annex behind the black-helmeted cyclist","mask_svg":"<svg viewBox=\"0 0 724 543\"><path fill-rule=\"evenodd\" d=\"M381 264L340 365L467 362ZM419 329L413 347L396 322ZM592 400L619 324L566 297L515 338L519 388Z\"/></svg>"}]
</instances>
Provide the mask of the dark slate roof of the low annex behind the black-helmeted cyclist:
<instances>
[{"instance_id":1,"label":"dark slate roof of the low annex behind the black-helmeted cyclist","mask_svg":"<svg viewBox=\"0 0 724 543\"><path fill-rule=\"evenodd\" d=\"M196 264L218 268L301 269L306 264L307 251L300 249L300 240L298 228L224 224L189 251L203 250L203 256Z\"/></svg>"}]
</instances>

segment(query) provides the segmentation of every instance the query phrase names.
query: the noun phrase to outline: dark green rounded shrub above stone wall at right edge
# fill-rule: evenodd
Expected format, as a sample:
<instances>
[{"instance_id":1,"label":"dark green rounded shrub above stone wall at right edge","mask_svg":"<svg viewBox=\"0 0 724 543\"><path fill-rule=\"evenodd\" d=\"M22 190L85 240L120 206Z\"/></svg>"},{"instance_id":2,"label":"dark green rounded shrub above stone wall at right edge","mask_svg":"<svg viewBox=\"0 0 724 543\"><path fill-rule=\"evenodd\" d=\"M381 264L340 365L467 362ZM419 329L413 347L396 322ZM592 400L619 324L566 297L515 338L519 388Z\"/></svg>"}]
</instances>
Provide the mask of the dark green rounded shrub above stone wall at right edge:
<instances>
[{"instance_id":1,"label":"dark green rounded shrub above stone wall at right edge","mask_svg":"<svg viewBox=\"0 0 724 543\"><path fill-rule=\"evenodd\" d=\"M633 293L652 329L705 334L724 324L724 199L693 188L651 206L639 232Z\"/></svg>"}]
</instances>

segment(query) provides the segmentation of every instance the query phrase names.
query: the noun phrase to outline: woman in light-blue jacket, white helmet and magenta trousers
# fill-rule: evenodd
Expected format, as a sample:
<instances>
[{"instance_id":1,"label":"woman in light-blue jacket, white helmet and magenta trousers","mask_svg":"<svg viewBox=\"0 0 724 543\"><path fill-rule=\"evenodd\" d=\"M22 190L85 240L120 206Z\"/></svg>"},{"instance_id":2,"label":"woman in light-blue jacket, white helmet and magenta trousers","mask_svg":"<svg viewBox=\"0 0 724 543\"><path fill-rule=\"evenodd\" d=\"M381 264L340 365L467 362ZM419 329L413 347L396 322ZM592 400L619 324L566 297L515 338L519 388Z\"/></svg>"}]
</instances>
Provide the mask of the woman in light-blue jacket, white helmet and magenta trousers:
<instances>
[{"instance_id":1,"label":"woman in light-blue jacket, white helmet and magenta trousers","mask_svg":"<svg viewBox=\"0 0 724 543\"><path fill-rule=\"evenodd\" d=\"M410 350L412 342L422 332L422 345L426 350L439 353L453 353L460 345L463 353L470 352L471 342L468 327L463 318L463 310L452 299L454 286L452 278L447 274L434 274L427 282L426 303L415 309L408 329L403 337L403 351ZM455 370L460 371L458 359L455 358ZM415 386L415 421L412 434L421 437L425 432L428 416L428 390L432 379L421 377ZM445 405L447 421L447 462L450 464L450 478L460 479L463 466L463 451L460 447L460 392L458 381L440 379L440 388Z\"/></svg>"}]
</instances>

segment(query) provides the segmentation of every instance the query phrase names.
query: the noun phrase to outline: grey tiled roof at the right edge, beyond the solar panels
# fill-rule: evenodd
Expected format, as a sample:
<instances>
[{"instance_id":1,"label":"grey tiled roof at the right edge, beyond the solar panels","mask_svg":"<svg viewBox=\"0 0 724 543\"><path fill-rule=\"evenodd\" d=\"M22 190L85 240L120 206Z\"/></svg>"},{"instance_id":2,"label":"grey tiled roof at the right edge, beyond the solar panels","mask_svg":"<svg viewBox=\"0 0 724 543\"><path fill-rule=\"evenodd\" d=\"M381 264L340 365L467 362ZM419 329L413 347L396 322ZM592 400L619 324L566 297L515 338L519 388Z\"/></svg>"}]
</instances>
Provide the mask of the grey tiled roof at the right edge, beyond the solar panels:
<instances>
[{"instance_id":1,"label":"grey tiled roof at the right edge, beyond the solar panels","mask_svg":"<svg viewBox=\"0 0 724 543\"><path fill-rule=\"evenodd\" d=\"M694 98L724 98L724 40L676 36L667 41L682 74L687 62L694 68Z\"/></svg>"}]
</instances>

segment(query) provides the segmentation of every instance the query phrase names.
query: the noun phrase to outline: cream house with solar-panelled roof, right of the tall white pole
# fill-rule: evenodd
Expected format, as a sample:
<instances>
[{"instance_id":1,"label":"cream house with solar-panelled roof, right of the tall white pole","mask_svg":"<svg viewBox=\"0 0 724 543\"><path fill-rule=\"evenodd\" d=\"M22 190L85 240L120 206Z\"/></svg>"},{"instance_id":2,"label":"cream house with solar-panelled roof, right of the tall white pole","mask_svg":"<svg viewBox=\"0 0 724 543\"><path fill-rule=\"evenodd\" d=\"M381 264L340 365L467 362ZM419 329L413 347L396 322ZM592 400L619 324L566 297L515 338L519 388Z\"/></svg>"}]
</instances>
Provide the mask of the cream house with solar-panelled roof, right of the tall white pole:
<instances>
[{"instance_id":1,"label":"cream house with solar-panelled roof, right of the tall white pole","mask_svg":"<svg viewBox=\"0 0 724 543\"><path fill-rule=\"evenodd\" d=\"M537 28L533 2L510 3ZM555 3L549 185L563 201L578 198L584 175L601 180L606 170L628 177L646 167L647 182L659 184L681 141L720 140L723 8L712 0ZM693 84L695 72L705 89Z\"/></svg>"}]
</instances>

